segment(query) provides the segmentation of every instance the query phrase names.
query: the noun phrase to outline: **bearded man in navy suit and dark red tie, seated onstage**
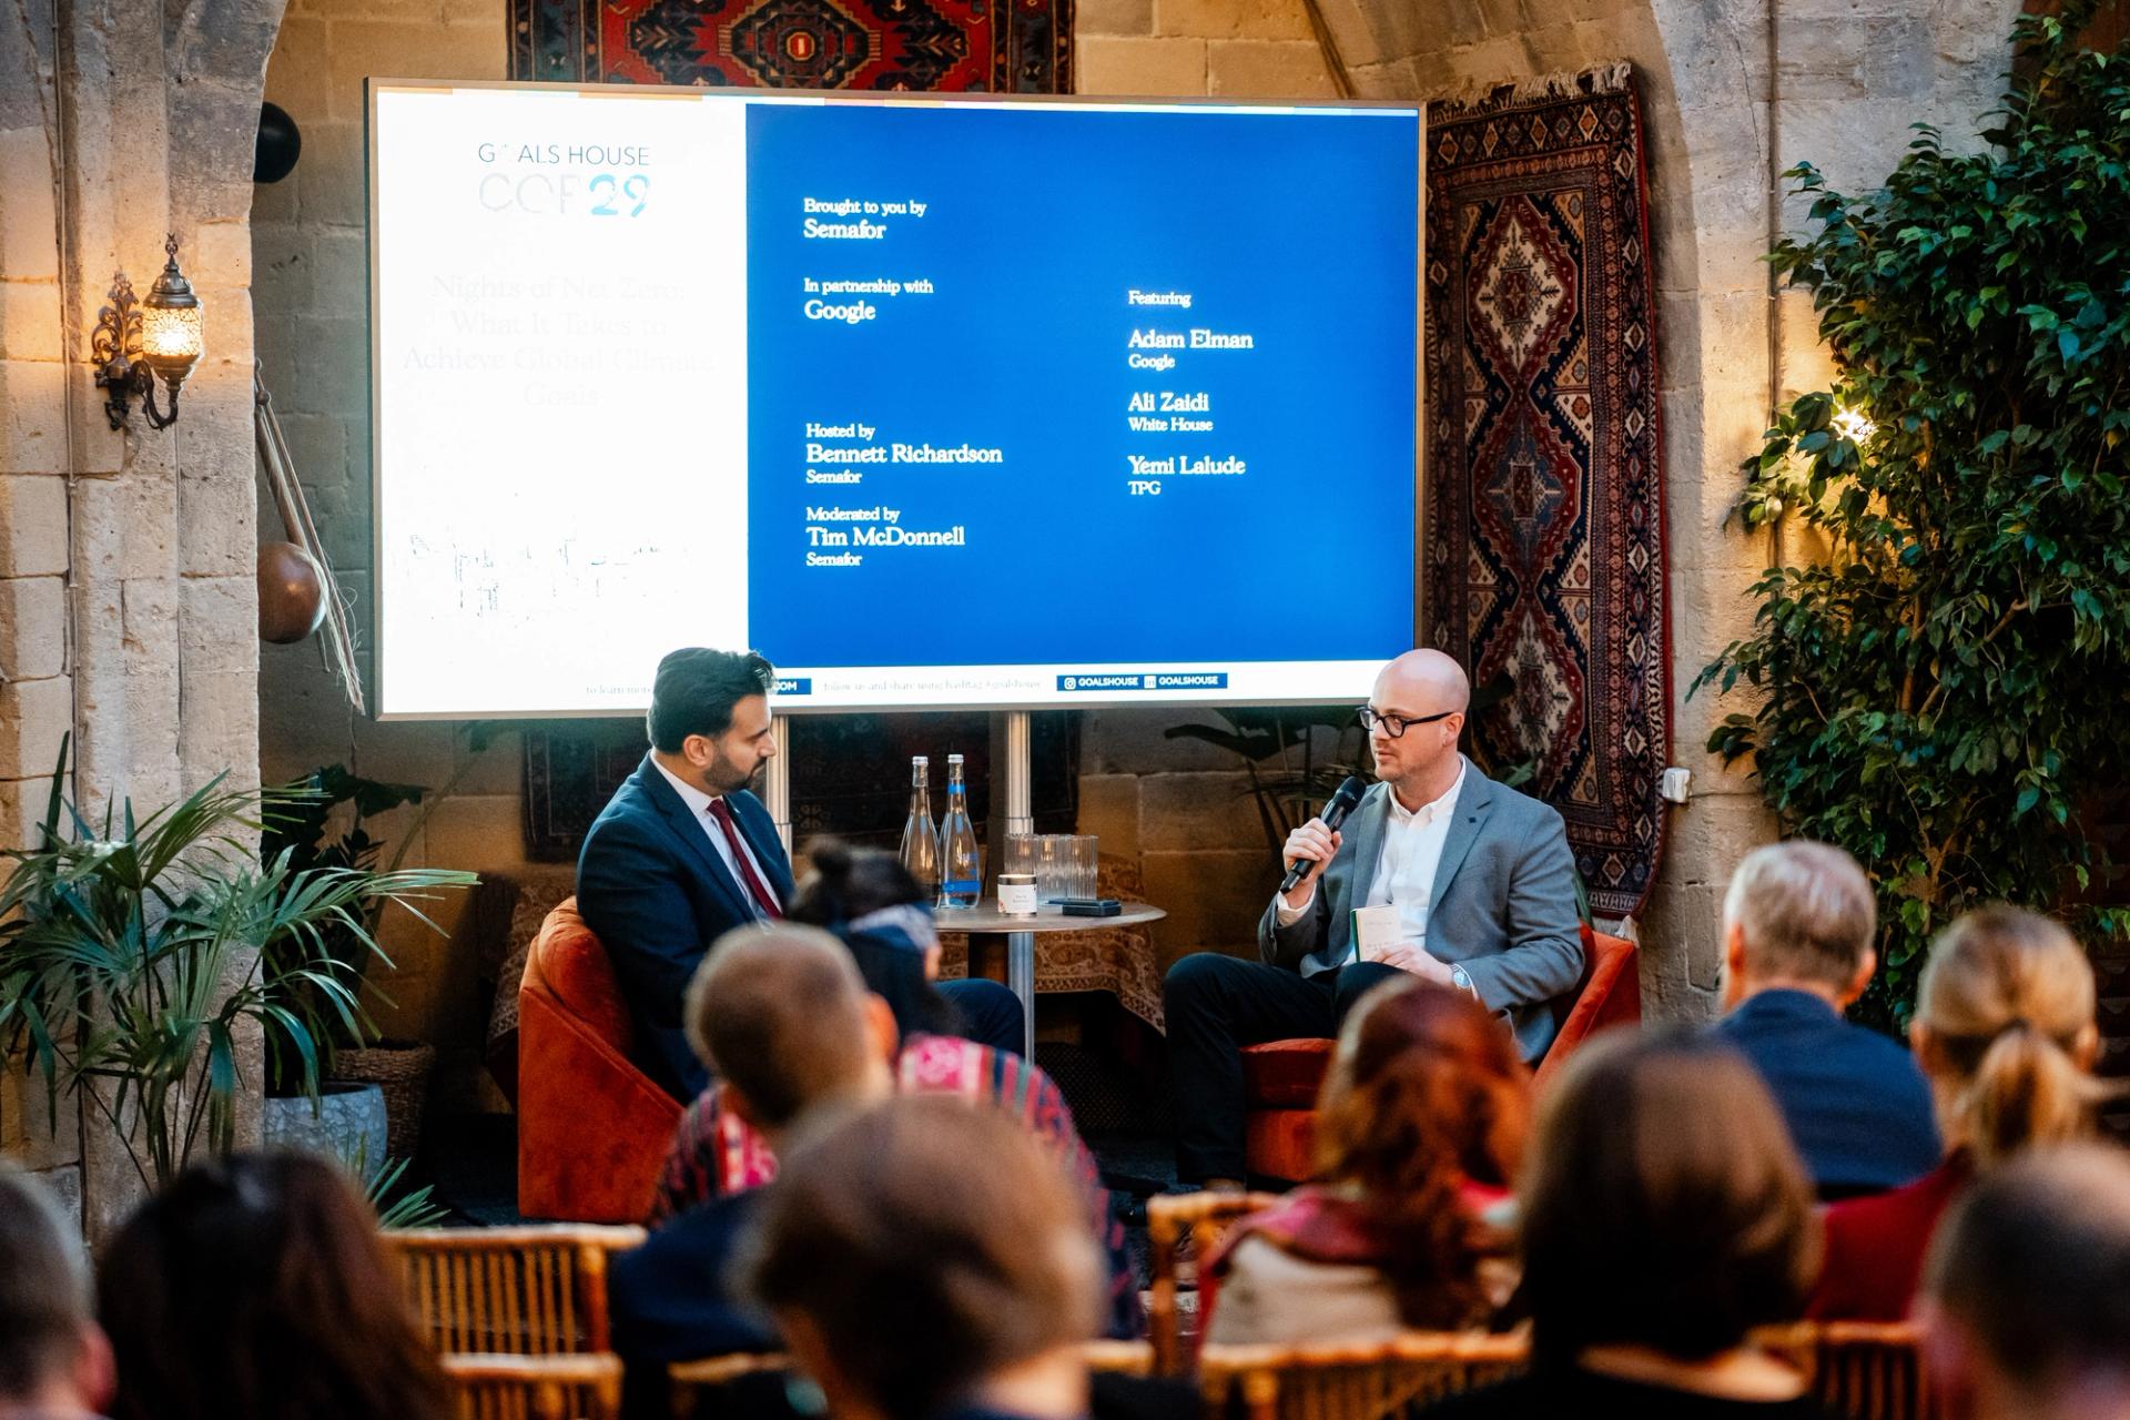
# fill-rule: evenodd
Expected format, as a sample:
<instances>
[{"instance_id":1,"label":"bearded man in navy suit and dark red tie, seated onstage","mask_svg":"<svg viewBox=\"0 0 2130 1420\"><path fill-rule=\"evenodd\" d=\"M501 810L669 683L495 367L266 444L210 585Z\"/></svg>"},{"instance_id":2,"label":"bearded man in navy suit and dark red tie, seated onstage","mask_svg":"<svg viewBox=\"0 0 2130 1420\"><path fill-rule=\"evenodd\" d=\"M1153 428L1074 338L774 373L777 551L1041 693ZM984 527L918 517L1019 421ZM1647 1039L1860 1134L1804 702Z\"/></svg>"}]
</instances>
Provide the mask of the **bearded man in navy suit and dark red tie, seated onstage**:
<instances>
[{"instance_id":1,"label":"bearded man in navy suit and dark red tie, seated onstage","mask_svg":"<svg viewBox=\"0 0 2130 1420\"><path fill-rule=\"evenodd\" d=\"M637 1062L673 1099L709 1073L688 1047L682 996L709 943L767 924L792 901L792 864L763 800L748 792L775 756L769 688L754 651L686 647L658 662L650 739L637 773L592 822L577 856L577 911L613 960L637 1028ZM997 981L944 981L961 1016L1020 1043L1020 1007Z\"/></svg>"}]
</instances>

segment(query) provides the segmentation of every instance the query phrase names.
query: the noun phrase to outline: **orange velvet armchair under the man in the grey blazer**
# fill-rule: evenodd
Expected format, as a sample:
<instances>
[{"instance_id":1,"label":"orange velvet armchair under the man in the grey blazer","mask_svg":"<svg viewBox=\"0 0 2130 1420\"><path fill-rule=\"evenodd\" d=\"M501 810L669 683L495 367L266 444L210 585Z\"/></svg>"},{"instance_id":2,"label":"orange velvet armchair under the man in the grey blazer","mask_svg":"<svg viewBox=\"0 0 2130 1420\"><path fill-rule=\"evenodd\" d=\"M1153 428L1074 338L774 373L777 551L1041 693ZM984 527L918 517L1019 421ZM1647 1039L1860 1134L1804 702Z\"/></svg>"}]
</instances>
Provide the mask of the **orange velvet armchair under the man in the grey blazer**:
<instances>
[{"instance_id":1,"label":"orange velvet armchair under the man in the grey blazer","mask_svg":"<svg viewBox=\"0 0 2130 1420\"><path fill-rule=\"evenodd\" d=\"M1642 1020L1642 975L1634 943L1583 928L1583 981L1555 1005L1559 1033L1538 1062L1534 1088L1606 1026ZM1252 1177L1301 1182L1316 1141L1316 1092L1331 1067L1331 1041L1265 1041L1242 1050L1244 1158Z\"/></svg>"}]
</instances>

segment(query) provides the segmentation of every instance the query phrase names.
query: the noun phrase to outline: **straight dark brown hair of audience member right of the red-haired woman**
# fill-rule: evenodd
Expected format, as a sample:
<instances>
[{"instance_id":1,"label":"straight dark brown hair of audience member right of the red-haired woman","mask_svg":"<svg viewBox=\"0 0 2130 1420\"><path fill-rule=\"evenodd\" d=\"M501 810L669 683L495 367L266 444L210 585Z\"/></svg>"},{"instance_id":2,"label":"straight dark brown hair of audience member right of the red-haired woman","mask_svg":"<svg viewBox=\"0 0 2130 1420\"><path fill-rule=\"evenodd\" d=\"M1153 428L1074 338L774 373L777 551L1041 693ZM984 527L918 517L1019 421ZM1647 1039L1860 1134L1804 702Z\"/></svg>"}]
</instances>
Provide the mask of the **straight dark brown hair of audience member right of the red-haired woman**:
<instances>
[{"instance_id":1,"label":"straight dark brown hair of audience member right of the red-haired woman","mask_svg":"<svg viewBox=\"0 0 2130 1420\"><path fill-rule=\"evenodd\" d=\"M1523 1186L1531 1345L1702 1360L1793 1320L1819 1273L1813 1188L1759 1075L1661 1030L1585 1045L1540 1107Z\"/></svg>"}]
</instances>

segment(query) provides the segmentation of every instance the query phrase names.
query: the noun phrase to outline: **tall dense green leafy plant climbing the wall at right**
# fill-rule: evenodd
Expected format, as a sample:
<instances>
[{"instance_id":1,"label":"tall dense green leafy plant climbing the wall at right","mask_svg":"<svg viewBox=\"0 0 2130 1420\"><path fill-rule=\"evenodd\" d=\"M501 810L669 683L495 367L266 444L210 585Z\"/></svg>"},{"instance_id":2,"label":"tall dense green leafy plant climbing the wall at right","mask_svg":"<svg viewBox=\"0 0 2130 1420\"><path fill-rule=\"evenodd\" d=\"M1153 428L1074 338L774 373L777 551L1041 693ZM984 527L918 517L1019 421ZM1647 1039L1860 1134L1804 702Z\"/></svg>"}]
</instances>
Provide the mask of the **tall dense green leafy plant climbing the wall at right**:
<instances>
[{"instance_id":1,"label":"tall dense green leafy plant climbing the wall at right","mask_svg":"<svg viewBox=\"0 0 2130 1420\"><path fill-rule=\"evenodd\" d=\"M1695 690L1751 692L1708 747L1874 877L1883 1024L1970 905L2130 928L2090 830L2130 783L2130 51L2079 43L2094 9L2019 21L1983 151L1919 128L1859 198L1793 168L1813 230L1772 253L1838 375L1774 417L1738 513L1823 560L1762 575Z\"/></svg>"}]
</instances>

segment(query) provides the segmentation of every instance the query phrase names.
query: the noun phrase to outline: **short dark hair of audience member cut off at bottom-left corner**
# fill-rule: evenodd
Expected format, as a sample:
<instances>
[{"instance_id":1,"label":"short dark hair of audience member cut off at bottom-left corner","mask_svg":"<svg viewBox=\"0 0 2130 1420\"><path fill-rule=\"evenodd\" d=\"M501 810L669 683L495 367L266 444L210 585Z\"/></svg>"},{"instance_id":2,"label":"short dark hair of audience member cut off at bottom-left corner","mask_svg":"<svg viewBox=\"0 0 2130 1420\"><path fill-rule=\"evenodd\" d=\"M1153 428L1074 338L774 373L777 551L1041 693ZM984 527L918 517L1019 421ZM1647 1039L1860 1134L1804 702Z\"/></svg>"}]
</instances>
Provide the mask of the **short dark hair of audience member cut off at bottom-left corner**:
<instances>
[{"instance_id":1,"label":"short dark hair of audience member cut off at bottom-left corner","mask_svg":"<svg viewBox=\"0 0 2130 1420\"><path fill-rule=\"evenodd\" d=\"M75 1358L89 1265L51 1192L0 1162L0 1399L28 1401Z\"/></svg>"}]
</instances>

